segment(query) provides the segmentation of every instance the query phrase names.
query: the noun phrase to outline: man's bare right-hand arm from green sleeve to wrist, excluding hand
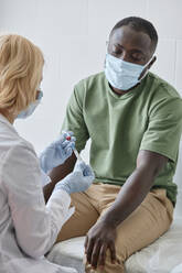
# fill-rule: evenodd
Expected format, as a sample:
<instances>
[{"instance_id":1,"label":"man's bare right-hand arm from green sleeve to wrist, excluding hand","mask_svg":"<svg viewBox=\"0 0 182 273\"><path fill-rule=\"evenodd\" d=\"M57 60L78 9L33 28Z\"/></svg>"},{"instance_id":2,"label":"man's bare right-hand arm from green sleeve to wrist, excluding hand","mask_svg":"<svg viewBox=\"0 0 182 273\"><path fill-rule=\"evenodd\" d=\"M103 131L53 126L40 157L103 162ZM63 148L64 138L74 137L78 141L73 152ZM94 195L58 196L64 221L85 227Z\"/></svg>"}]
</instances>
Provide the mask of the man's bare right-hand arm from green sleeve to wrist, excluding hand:
<instances>
[{"instance_id":1,"label":"man's bare right-hand arm from green sleeve to wrist, excluding hand","mask_svg":"<svg viewBox=\"0 0 182 273\"><path fill-rule=\"evenodd\" d=\"M106 222L117 227L142 203L152 187L156 176L159 175L168 160L154 152L139 152L137 168L121 187L114 205L105 215Z\"/></svg>"}]
</instances>

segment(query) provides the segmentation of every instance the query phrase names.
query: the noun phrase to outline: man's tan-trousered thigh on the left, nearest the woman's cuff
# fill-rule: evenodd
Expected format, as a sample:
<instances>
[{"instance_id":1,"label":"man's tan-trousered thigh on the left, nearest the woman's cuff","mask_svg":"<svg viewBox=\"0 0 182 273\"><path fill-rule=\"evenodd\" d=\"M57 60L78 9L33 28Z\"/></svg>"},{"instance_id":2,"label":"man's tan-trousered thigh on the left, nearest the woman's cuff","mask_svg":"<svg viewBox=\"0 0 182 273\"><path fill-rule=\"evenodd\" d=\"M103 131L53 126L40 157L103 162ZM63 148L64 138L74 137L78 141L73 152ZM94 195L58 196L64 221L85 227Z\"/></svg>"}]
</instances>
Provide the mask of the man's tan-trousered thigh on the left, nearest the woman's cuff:
<instances>
[{"instance_id":1,"label":"man's tan-trousered thigh on the left, nearest the woman's cuff","mask_svg":"<svg viewBox=\"0 0 182 273\"><path fill-rule=\"evenodd\" d=\"M71 195L74 215L66 221L57 236L58 241L73 237L85 236L90 227L97 221L99 215L85 193Z\"/></svg>"}]
</instances>

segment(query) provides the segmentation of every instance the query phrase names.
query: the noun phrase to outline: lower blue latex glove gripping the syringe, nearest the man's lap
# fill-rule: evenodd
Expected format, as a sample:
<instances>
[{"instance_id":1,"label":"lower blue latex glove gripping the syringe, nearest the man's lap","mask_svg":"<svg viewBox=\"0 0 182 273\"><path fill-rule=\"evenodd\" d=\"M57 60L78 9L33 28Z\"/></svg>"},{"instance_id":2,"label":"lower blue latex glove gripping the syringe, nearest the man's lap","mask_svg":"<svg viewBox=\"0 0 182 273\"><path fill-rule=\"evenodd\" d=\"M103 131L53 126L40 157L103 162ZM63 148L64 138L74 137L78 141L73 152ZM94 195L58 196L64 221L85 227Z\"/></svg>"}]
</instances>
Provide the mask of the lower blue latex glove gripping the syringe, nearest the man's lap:
<instances>
[{"instance_id":1,"label":"lower blue latex glove gripping the syringe, nearest the man's lap","mask_svg":"<svg viewBox=\"0 0 182 273\"><path fill-rule=\"evenodd\" d=\"M94 178L95 175L90 166L83 161L78 161L73 173L58 182L54 190L64 189L67 194L84 192L92 185Z\"/></svg>"}]
</instances>

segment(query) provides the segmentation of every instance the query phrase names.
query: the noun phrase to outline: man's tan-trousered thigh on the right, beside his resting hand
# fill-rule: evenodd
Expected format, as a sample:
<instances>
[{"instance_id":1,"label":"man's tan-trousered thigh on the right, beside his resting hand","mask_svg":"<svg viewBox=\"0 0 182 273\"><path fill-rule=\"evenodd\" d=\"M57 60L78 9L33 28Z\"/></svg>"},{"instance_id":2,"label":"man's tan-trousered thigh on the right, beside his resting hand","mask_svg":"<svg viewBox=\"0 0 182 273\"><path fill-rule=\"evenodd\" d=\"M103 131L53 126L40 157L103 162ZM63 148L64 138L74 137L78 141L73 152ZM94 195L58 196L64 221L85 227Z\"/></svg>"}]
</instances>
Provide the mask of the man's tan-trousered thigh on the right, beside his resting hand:
<instances>
[{"instance_id":1,"label":"man's tan-trousered thigh on the right, beside his resting hand","mask_svg":"<svg viewBox=\"0 0 182 273\"><path fill-rule=\"evenodd\" d=\"M116 250L120 262L163 234L172 222L173 205L164 189L149 193L142 204L117 228Z\"/></svg>"}]
</instances>

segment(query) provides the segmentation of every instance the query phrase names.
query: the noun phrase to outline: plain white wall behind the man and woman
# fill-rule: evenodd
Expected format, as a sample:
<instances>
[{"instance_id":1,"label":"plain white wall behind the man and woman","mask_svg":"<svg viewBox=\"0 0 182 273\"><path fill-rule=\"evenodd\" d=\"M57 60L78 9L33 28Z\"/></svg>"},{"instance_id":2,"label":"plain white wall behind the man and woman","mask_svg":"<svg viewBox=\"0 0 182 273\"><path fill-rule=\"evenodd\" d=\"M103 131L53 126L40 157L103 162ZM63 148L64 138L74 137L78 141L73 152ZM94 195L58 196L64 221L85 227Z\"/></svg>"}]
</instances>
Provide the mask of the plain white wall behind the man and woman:
<instances>
[{"instance_id":1,"label":"plain white wall behind the man and woman","mask_svg":"<svg viewBox=\"0 0 182 273\"><path fill-rule=\"evenodd\" d=\"M46 62L42 105L26 122L15 123L18 131L38 152L58 134L74 84L103 69L108 33L129 15L154 24L159 46L153 72L182 95L181 11L181 0L0 0L0 31L25 35ZM181 177L179 167L178 183Z\"/></svg>"}]
</instances>

